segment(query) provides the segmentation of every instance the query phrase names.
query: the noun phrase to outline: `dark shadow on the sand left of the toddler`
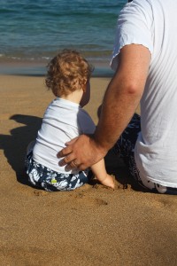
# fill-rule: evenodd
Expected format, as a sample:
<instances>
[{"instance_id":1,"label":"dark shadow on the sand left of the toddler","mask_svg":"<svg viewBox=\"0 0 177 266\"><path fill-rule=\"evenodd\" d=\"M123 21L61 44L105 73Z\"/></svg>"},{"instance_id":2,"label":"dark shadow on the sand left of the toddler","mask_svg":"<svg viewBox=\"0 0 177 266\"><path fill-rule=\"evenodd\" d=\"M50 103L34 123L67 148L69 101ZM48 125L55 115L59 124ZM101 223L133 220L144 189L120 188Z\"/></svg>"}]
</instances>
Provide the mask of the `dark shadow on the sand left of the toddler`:
<instances>
[{"instance_id":1,"label":"dark shadow on the sand left of the toddler","mask_svg":"<svg viewBox=\"0 0 177 266\"><path fill-rule=\"evenodd\" d=\"M41 127L42 118L25 114L14 114L10 119L24 125L12 129L11 135L0 135L0 149L4 150L4 155L16 172L19 183L29 185L24 168L27 145L35 139L37 131Z\"/></svg>"}]
</instances>

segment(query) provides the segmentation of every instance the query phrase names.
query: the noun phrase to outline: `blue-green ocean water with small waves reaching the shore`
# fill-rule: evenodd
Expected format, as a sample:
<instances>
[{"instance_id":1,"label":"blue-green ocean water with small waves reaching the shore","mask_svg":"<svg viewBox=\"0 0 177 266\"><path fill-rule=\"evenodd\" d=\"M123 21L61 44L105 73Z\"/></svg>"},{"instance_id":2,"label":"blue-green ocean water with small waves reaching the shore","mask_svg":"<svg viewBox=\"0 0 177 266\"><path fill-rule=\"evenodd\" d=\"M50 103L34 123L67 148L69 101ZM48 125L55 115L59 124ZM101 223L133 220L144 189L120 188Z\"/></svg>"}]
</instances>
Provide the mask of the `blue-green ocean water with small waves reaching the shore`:
<instances>
[{"instance_id":1,"label":"blue-green ocean water with small waves reaching the shore","mask_svg":"<svg viewBox=\"0 0 177 266\"><path fill-rule=\"evenodd\" d=\"M0 62L47 62L58 51L71 48L105 68L112 56L119 11L126 3L0 0Z\"/></svg>"}]
</instances>

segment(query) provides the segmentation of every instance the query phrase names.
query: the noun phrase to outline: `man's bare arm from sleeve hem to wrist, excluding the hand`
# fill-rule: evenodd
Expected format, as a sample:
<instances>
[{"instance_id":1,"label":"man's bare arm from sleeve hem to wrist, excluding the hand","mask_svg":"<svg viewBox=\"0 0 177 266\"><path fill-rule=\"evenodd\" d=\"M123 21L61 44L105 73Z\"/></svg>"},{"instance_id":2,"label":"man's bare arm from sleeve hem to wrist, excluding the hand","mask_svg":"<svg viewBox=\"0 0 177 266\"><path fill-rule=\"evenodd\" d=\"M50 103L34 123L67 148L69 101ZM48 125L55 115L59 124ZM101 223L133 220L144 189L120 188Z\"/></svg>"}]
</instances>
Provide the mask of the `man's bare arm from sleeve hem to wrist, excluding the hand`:
<instances>
[{"instance_id":1,"label":"man's bare arm from sleeve hem to wrist, excluding the hand","mask_svg":"<svg viewBox=\"0 0 177 266\"><path fill-rule=\"evenodd\" d=\"M105 92L95 133L96 142L105 150L112 148L135 113L149 66L150 51L144 46L130 44L120 51L119 68Z\"/></svg>"}]
</instances>

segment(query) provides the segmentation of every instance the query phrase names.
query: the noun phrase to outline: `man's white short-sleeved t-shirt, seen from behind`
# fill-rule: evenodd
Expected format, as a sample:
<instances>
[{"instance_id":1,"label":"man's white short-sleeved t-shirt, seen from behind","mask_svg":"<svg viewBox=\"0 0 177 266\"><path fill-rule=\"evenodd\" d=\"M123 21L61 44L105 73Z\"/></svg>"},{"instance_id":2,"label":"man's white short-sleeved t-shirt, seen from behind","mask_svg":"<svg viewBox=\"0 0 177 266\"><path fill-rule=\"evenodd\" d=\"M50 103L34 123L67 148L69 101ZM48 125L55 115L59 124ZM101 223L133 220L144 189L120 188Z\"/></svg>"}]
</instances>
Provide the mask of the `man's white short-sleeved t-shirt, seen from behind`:
<instances>
[{"instance_id":1,"label":"man's white short-sleeved t-shirt, seen from behind","mask_svg":"<svg viewBox=\"0 0 177 266\"><path fill-rule=\"evenodd\" d=\"M150 50L150 70L141 100L142 132L135 145L140 176L177 187L177 1L134 0L118 20L111 66L119 50L142 44Z\"/></svg>"}]
</instances>

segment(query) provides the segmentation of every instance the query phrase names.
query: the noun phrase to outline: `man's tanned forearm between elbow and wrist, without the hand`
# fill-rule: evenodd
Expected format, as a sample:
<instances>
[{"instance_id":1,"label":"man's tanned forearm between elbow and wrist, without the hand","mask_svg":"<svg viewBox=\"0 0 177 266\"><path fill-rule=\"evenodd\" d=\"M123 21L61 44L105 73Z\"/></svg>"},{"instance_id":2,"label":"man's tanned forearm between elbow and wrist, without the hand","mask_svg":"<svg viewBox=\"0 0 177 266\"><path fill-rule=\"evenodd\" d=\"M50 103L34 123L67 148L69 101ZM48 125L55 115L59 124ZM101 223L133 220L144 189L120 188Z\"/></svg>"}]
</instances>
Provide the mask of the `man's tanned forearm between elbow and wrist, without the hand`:
<instances>
[{"instance_id":1,"label":"man's tanned forearm between elbow and wrist, without the hand","mask_svg":"<svg viewBox=\"0 0 177 266\"><path fill-rule=\"evenodd\" d=\"M95 140L107 151L112 148L127 127L141 98L139 93L122 88L122 85L117 85L112 80L108 86L96 127Z\"/></svg>"}]
</instances>

